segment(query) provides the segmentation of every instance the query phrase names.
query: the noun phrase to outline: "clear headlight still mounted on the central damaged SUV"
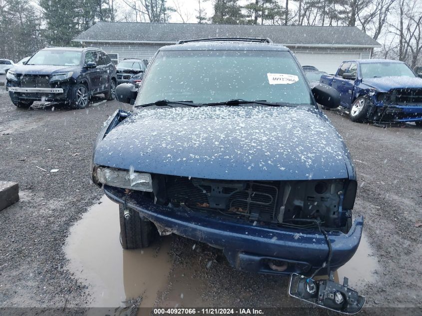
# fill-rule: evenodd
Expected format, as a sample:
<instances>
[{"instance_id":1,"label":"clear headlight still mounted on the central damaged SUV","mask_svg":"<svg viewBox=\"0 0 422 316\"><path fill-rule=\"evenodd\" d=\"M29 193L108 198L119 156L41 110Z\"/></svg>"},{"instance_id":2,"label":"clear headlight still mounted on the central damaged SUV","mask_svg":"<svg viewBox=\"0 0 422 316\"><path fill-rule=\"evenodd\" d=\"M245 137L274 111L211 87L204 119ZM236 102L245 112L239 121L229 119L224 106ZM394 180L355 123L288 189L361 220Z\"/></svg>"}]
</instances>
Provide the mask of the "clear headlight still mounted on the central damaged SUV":
<instances>
[{"instance_id":1,"label":"clear headlight still mounted on the central damaged SUV","mask_svg":"<svg viewBox=\"0 0 422 316\"><path fill-rule=\"evenodd\" d=\"M97 178L100 183L112 187L152 192L152 179L149 173L99 167Z\"/></svg>"}]
</instances>

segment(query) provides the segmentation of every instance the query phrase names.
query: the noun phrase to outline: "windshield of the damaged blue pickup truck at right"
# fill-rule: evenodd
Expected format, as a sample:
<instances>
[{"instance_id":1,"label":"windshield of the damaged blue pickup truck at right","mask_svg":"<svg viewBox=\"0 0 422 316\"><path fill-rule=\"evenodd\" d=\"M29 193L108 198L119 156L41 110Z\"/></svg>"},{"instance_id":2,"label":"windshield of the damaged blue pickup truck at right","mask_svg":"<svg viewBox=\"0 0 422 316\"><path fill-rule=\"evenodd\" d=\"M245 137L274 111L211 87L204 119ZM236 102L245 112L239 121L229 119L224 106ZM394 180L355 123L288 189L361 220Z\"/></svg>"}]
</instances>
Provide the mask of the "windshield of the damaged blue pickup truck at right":
<instances>
[{"instance_id":1,"label":"windshield of the damaged blue pickup truck at right","mask_svg":"<svg viewBox=\"0 0 422 316\"><path fill-rule=\"evenodd\" d=\"M361 63L362 78L408 76L415 74L407 64L401 62L371 62Z\"/></svg>"}]
</instances>

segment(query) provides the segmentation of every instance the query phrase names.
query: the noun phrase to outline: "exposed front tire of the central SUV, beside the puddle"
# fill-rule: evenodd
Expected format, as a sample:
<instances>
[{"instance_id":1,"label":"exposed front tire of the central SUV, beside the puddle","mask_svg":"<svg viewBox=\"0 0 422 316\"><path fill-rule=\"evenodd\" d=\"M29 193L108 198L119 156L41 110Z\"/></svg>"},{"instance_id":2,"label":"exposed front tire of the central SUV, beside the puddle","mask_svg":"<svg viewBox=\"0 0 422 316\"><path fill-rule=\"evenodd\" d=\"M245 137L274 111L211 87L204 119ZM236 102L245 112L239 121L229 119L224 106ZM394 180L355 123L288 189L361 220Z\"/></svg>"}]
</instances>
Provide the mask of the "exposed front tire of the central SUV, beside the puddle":
<instances>
[{"instance_id":1,"label":"exposed front tire of the central SUV, beside the puddle","mask_svg":"<svg viewBox=\"0 0 422 316\"><path fill-rule=\"evenodd\" d=\"M125 218L123 205L119 204L120 242L123 249L141 249L150 245L154 237L151 222L141 219L138 212L128 209Z\"/></svg>"}]
</instances>

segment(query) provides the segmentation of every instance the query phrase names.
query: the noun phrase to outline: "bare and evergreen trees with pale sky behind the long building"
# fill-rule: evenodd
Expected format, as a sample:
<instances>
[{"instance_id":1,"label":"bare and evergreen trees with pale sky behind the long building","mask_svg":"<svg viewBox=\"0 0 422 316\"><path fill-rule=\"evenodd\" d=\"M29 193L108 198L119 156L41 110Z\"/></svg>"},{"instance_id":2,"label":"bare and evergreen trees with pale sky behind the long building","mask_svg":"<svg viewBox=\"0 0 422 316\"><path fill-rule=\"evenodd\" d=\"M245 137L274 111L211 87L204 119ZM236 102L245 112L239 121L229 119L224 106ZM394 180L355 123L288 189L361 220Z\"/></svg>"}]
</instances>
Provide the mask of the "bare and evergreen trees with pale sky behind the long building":
<instances>
[{"instance_id":1,"label":"bare and evergreen trees with pale sky behind the long building","mask_svg":"<svg viewBox=\"0 0 422 316\"><path fill-rule=\"evenodd\" d=\"M212 1L207 16L204 2ZM420 0L0 0L0 58L14 61L71 40L97 21L357 26L382 44L381 58L422 59ZM130 32L130 29L128 29Z\"/></svg>"}]
</instances>

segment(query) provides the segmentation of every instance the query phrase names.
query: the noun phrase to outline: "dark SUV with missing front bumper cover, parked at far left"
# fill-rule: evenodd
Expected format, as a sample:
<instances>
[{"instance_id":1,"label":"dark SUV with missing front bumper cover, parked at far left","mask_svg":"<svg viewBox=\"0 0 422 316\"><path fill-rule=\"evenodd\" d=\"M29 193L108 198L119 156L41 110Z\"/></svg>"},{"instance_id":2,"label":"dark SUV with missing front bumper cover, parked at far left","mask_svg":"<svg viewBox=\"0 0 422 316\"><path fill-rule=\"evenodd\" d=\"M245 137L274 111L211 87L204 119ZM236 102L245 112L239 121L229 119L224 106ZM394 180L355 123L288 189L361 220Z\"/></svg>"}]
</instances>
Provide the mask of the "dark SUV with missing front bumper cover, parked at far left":
<instances>
[{"instance_id":1,"label":"dark SUV with missing front bumper cover, parked at far left","mask_svg":"<svg viewBox=\"0 0 422 316\"><path fill-rule=\"evenodd\" d=\"M17 107L50 101L81 109L93 95L104 93L107 100L115 97L116 68L97 48L43 48L26 64L10 68L6 78L10 99Z\"/></svg>"}]
</instances>

